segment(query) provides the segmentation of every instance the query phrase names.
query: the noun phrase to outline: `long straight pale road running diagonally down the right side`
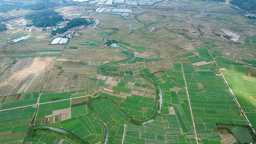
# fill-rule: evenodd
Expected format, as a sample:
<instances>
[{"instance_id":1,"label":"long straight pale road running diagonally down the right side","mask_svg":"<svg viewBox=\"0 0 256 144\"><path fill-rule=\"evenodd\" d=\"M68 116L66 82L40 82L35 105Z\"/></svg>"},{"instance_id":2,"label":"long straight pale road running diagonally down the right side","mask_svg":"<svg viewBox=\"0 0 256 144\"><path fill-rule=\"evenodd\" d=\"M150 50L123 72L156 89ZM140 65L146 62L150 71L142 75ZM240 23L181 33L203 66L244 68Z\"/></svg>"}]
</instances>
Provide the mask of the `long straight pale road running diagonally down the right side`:
<instances>
[{"instance_id":1,"label":"long straight pale road running diagonally down the right side","mask_svg":"<svg viewBox=\"0 0 256 144\"><path fill-rule=\"evenodd\" d=\"M187 14L187 15L188 15L190 21L192 22L193 26L195 27L195 30L197 31L197 33L198 33L198 35L200 36L201 40L203 41L203 43L204 43L204 45L205 45L205 47L206 47L206 49L207 49L207 51L208 51L210 57L212 58L214 64L216 65L216 67L217 67L217 69L218 69L218 71L219 71L219 73L220 73L220 75L221 75L221 77L222 77L224 83L226 84L228 90L230 91L230 94L231 94L231 96L233 97L233 99L234 99L236 105L238 106L238 108L240 109L240 111L242 112L242 114L244 115L244 119L246 120L247 124L252 127L253 132L256 133L256 132L255 132L255 129L253 128L253 126L252 126L252 124L250 123L249 119L248 119L247 116L245 115L243 108L242 108L241 105L239 104L239 102L238 102L238 100L236 99L236 97L235 97L235 95L234 95L232 89L230 88L228 82L226 81L224 75L223 75L222 72L220 71L219 66L218 66L217 62L215 61L214 57L212 56L212 54L211 54L209 48L208 48L207 45L205 44L204 39L202 38L201 34L200 34L199 31L197 30L197 28L196 28L194 22L192 21L192 19L191 19L190 16L189 16L189 14Z\"/></svg>"}]
</instances>

